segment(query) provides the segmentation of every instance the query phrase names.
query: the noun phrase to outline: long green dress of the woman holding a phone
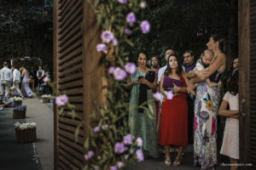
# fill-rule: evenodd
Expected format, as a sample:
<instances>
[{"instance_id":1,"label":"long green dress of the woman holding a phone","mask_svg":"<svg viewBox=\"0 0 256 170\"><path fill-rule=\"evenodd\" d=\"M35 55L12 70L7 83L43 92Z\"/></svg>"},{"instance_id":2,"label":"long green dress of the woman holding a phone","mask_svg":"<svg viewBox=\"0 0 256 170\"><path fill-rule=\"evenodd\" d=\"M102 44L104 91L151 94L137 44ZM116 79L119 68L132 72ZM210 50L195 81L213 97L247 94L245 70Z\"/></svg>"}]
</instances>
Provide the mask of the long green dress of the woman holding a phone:
<instances>
[{"instance_id":1,"label":"long green dress of the woman holding a phone","mask_svg":"<svg viewBox=\"0 0 256 170\"><path fill-rule=\"evenodd\" d=\"M138 79L138 77L145 77L138 68L136 72L131 75L131 81ZM140 84L135 84L131 88L130 105L129 105L129 125L131 135L135 138L141 137L143 139L143 153L144 156L158 156L156 121L154 116L154 99L152 90L147 90L148 109L144 109L143 113L137 111L139 99Z\"/></svg>"}]
</instances>

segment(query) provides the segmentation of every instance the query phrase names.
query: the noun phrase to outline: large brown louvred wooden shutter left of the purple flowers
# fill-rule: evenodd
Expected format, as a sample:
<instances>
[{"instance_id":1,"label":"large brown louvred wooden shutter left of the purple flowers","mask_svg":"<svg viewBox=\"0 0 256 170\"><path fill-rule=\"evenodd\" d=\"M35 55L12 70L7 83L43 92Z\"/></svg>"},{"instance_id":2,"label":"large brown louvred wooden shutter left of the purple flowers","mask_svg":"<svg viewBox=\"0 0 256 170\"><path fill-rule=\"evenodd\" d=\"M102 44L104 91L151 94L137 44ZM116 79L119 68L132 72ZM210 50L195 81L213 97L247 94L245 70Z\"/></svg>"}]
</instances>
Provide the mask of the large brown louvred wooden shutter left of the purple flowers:
<instances>
[{"instance_id":1,"label":"large brown louvred wooden shutter left of the purple flowers","mask_svg":"<svg viewBox=\"0 0 256 170\"><path fill-rule=\"evenodd\" d=\"M102 71L96 43L100 34L96 17L84 0L54 1L54 65L56 88L66 91L79 116L90 123L93 102L102 101ZM65 110L66 112L68 110ZM79 141L74 132L79 119L58 116L55 105L55 169L84 166L84 139L88 129L80 127Z\"/></svg>"}]
</instances>

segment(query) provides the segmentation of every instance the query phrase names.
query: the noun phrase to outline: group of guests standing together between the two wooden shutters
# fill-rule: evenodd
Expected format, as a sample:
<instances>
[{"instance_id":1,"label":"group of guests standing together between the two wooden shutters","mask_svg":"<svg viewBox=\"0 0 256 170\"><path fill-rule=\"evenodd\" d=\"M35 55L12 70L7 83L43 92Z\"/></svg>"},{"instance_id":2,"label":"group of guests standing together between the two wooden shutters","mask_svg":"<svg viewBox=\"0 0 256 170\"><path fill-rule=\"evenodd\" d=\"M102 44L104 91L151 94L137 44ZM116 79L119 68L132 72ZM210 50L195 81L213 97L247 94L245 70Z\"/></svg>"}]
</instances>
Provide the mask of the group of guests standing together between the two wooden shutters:
<instances>
[{"instance_id":1,"label":"group of guests standing together between the two wooden shutters","mask_svg":"<svg viewBox=\"0 0 256 170\"><path fill-rule=\"evenodd\" d=\"M183 147L194 144L195 166L216 169L217 118L226 116L220 153L230 157L230 169L237 169L238 59L234 59L234 68L227 76L227 88L220 90L224 88L222 77L227 60L224 46L223 37L212 35L197 61L192 50L184 51L181 59L174 49L167 49L163 67L158 56L149 60L145 52L138 55L136 72L127 80L127 88L131 89L129 125L131 134L143 139L144 156L159 156L161 144L165 147L166 166L178 166ZM153 97L157 92L161 94L160 101ZM177 156L171 160L174 146L178 147Z\"/></svg>"}]
</instances>

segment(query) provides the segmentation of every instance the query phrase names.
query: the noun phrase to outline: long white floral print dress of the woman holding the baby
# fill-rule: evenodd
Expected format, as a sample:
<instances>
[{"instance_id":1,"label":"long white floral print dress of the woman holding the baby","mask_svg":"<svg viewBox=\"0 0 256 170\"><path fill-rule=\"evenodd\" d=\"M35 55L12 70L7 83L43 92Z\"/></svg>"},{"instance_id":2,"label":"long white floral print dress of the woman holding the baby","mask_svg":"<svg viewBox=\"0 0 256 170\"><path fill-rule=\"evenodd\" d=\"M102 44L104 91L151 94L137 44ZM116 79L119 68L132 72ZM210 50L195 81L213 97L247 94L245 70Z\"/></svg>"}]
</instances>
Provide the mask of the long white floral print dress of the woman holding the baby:
<instances>
[{"instance_id":1,"label":"long white floral print dress of the woman holding the baby","mask_svg":"<svg viewBox=\"0 0 256 170\"><path fill-rule=\"evenodd\" d=\"M201 169L215 169L217 164L217 116L219 85L209 88L200 82L195 98L194 163Z\"/></svg>"}]
</instances>

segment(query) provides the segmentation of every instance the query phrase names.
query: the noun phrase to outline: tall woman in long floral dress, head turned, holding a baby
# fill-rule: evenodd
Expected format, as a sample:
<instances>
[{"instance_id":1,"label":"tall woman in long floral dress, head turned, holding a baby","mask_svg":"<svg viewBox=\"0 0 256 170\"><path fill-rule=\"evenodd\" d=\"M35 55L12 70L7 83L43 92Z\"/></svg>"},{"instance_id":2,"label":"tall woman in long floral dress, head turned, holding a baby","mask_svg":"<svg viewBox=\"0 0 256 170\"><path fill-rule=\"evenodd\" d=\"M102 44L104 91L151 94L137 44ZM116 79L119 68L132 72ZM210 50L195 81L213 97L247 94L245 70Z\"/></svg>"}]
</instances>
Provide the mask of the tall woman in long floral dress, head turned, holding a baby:
<instances>
[{"instance_id":1,"label":"tall woman in long floral dress, head turned, holding a baby","mask_svg":"<svg viewBox=\"0 0 256 170\"><path fill-rule=\"evenodd\" d=\"M196 78L190 82L199 82L195 98L194 118L194 162L201 169L216 169L217 164L217 116L220 101L219 83L217 87L209 88L205 81L219 82L225 70L226 56L224 54L224 38L212 35L207 48L214 53L212 64L203 71L195 71ZM189 83L189 88L191 83Z\"/></svg>"}]
</instances>

